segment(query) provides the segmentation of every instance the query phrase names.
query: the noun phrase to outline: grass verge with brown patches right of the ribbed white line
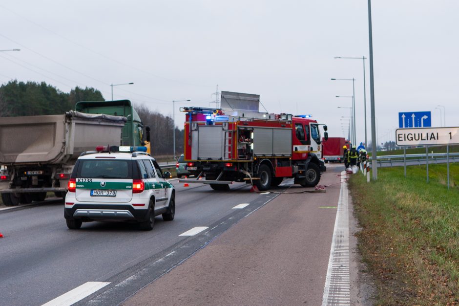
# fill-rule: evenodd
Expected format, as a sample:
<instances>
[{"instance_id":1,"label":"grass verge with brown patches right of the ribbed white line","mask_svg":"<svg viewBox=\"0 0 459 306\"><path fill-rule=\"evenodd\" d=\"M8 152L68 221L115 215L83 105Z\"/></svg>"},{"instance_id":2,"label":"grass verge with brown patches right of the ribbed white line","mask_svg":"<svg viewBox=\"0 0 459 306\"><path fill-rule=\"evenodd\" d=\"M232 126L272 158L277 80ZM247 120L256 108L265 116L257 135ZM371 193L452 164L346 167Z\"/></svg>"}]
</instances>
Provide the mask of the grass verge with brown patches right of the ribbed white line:
<instances>
[{"instance_id":1,"label":"grass verge with brown patches right of the ribbed white line","mask_svg":"<svg viewBox=\"0 0 459 306\"><path fill-rule=\"evenodd\" d=\"M363 260L376 278L378 305L458 305L459 164L379 168L378 180L352 175Z\"/></svg>"}]
</instances>

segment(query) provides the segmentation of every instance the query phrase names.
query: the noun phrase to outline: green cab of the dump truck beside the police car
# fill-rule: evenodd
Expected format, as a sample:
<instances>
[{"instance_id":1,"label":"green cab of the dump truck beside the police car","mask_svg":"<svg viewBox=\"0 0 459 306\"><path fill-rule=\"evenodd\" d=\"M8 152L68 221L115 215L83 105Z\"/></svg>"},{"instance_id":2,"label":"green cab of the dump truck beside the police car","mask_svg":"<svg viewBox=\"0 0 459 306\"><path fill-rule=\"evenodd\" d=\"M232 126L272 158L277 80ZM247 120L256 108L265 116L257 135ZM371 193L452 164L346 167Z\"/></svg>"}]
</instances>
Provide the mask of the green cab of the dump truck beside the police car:
<instances>
[{"instance_id":1,"label":"green cab of the dump truck beside the police car","mask_svg":"<svg viewBox=\"0 0 459 306\"><path fill-rule=\"evenodd\" d=\"M89 114L107 114L125 116L126 124L121 133L122 146L146 146L150 152L150 129L145 127L146 138L144 138L144 124L137 111L133 108L131 101L80 101L75 105L75 110Z\"/></svg>"}]
</instances>

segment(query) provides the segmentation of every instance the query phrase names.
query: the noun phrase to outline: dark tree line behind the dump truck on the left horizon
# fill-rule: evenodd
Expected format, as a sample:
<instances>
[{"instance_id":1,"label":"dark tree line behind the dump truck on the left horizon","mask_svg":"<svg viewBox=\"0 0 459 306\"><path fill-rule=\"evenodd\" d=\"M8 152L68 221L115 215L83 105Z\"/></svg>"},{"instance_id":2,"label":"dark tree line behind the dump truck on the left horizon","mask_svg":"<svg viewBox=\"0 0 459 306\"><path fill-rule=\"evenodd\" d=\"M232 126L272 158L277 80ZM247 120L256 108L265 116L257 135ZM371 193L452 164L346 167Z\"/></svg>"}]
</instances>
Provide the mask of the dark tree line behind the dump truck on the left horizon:
<instances>
[{"instance_id":1,"label":"dark tree line behind the dump truck on the left horizon","mask_svg":"<svg viewBox=\"0 0 459 306\"><path fill-rule=\"evenodd\" d=\"M63 92L45 82L9 81L0 86L0 117L63 114L75 109L79 101L105 101L102 93L92 87L75 87ZM151 111L145 105L134 107L151 131L151 150L154 155L173 154L173 121L169 116ZM1 119L0 119L1 120ZM183 153L183 130L175 127L176 153Z\"/></svg>"}]
</instances>

